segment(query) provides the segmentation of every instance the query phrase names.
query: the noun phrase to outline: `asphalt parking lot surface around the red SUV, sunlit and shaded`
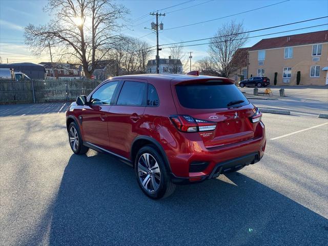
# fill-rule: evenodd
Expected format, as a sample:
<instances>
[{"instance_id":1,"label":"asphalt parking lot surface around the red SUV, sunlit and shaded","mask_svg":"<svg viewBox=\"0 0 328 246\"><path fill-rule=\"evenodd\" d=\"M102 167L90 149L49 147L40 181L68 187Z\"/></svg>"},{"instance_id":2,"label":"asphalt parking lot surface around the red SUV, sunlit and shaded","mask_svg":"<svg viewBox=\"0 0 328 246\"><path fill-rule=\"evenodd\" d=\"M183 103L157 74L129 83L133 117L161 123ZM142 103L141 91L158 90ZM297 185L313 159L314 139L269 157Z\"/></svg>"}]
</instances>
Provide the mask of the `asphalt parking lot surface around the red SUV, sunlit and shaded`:
<instances>
[{"instance_id":1,"label":"asphalt parking lot surface around the red SUV, sunlit and shaded","mask_svg":"<svg viewBox=\"0 0 328 246\"><path fill-rule=\"evenodd\" d=\"M67 106L0 106L0 245L326 245L327 119L264 114L259 163L155 201L131 167L72 153Z\"/></svg>"}]
</instances>

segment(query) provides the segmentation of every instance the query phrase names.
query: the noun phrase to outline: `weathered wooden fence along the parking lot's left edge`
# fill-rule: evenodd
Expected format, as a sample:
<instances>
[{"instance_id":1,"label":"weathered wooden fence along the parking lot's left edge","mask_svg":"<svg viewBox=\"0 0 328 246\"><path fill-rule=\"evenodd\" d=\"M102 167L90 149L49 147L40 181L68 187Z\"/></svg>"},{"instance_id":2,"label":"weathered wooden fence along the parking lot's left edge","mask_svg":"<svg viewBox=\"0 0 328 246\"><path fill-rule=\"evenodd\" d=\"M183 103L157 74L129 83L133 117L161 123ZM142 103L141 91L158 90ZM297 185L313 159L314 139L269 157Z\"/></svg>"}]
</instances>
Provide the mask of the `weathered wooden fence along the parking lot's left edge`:
<instances>
[{"instance_id":1,"label":"weathered wooden fence along the parking lot's left edge","mask_svg":"<svg viewBox=\"0 0 328 246\"><path fill-rule=\"evenodd\" d=\"M98 80L86 79L0 79L0 104L75 100L79 95L90 94L100 83Z\"/></svg>"}]
</instances>

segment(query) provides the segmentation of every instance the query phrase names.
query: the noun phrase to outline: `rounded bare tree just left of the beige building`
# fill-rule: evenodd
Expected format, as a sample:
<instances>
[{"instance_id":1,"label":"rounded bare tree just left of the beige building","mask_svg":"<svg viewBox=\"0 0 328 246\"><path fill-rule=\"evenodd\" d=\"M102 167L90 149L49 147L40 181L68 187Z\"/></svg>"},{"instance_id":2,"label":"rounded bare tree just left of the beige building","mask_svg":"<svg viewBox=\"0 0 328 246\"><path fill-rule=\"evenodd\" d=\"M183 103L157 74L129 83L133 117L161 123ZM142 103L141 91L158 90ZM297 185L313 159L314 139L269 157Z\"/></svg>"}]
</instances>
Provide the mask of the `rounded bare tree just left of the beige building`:
<instances>
[{"instance_id":1,"label":"rounded bare tree just left of the beige building","mask_svg":"<svg viewBox=\"0 0 328 246\"><path fill-rule=\"evenodd\" d=\"M222 77L229 77L235 70L231 63L234 53L247 41L248 34L242 33L242 23L231 21L218 29L209 45L209 56L213 65L213 71Z\"/></svg>"}]
</instances>

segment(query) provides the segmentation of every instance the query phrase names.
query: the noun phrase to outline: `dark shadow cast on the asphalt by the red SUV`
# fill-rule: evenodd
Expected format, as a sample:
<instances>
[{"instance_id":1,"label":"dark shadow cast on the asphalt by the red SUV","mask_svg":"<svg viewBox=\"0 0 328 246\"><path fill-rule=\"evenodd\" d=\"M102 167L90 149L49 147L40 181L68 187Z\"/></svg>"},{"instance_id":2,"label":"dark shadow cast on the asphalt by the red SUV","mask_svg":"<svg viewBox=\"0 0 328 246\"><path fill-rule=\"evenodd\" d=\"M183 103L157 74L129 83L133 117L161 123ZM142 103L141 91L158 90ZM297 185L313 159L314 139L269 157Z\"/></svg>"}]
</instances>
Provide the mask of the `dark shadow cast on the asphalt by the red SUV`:
<instances>
[{"instance_id":1,"label":"dark shadow cast on the asphalt by the red SUV","mask_svg":"<svg viewBox=\"0 0 328 246\"><path fill-rule=\"evenodd\" d=\"M326 245L328 240L327 219L240 173L179 186L172 196L152 200L139 190L131 167L104 154L71 156L31 244L49 230L50 245Z\"/></svg>"}]
</instances>

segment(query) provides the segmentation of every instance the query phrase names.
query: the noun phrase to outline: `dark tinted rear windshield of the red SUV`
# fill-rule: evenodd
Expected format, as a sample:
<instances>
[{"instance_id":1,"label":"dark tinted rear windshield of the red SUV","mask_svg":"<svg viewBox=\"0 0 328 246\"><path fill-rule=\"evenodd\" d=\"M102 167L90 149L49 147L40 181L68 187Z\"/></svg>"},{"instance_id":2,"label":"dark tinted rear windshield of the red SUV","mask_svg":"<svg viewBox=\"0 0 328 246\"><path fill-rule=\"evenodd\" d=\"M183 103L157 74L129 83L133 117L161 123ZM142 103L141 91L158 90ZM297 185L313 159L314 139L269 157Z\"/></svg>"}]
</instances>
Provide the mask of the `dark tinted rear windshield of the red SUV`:
<instances>
[{"instance_id":1,"label":"dark tinted rear windshield of the red SUV","mask_svg":"<svg viewBox=\"0 0 328 246\"><path fill-rule=\"evenodd\" d=\"M232 84L193 84L176 86L180 104L190 109L221 109L239 107L249 104L249 101ZM239 103L236 103L239 101Z\"/></svg>"}]
</instances>

